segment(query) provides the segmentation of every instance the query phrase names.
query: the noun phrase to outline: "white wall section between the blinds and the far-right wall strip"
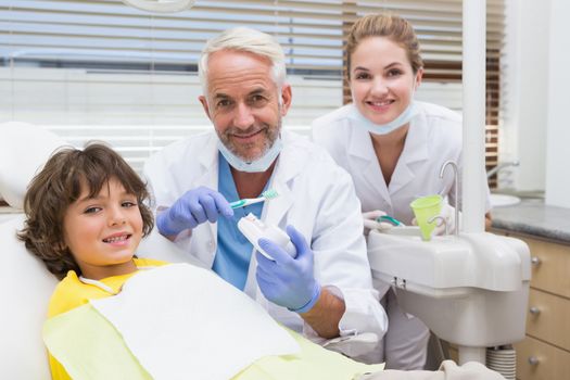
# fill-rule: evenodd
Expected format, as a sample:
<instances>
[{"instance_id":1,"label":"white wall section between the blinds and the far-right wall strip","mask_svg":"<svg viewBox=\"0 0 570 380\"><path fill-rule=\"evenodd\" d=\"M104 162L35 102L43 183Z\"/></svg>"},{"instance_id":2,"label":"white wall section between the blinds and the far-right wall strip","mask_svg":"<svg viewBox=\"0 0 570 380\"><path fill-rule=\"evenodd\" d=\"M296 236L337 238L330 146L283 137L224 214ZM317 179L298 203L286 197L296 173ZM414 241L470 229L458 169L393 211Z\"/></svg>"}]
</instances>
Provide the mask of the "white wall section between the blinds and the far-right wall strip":
<instances>
[{"instance_id":1,"label":"white wall section between the blinds and the far-right wall strip","mask_svg":"<svg viewBox=\"0 0 570 380\"><path fill-rule=\"evenodd\" d=\"M520 162L512 170L508 187L521 191L545 190L546 187L550 2L506 2L508 50L503 64L507 98L504 99L499 161Z\"/></svg>"}]
</instances>

